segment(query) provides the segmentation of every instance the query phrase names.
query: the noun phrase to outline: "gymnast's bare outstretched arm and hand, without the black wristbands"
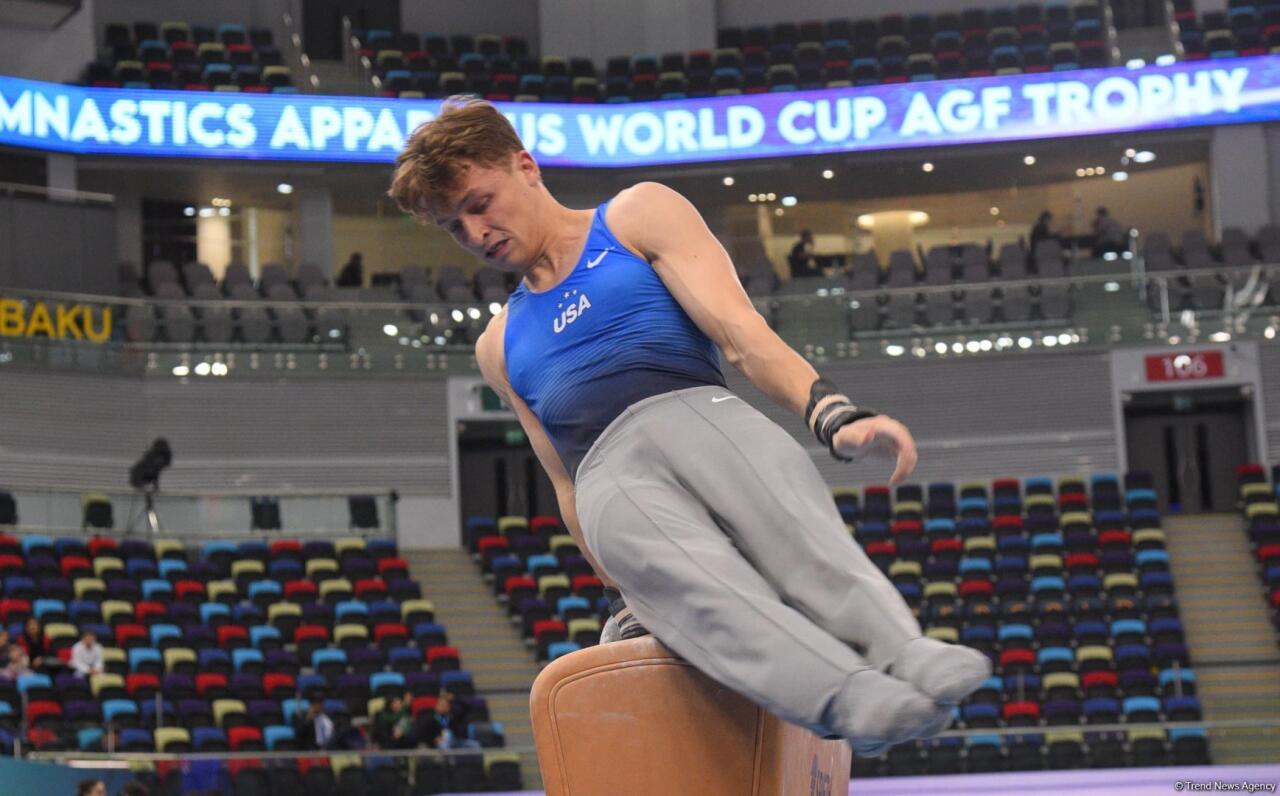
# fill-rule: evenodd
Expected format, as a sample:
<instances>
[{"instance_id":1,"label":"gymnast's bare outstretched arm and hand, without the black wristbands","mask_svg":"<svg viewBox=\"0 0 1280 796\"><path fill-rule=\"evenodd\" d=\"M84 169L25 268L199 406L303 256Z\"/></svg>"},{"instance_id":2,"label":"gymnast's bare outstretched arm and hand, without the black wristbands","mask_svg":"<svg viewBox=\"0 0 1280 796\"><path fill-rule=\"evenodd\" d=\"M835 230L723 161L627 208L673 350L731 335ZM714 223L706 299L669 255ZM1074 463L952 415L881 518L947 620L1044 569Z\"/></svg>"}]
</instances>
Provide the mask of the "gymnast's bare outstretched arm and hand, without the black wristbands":
<instances>
[{"instance_id":1,"label":"gymnast's bare outstretched arm and hand, without the black wristbands","mask_svg":"<svg viewBox=\"0 0 1280 796\"><path fill-rule=\"evenodd\" d=\"M818 372L778 337L751 299L724 247L698 209L659 183L639 183L609 203L605 220L620 242L648 260L667 289L736 367L776 403L805 417ZM823 398L813 416L833 398ZM808 420L808 418L806 418ZM897 459L891 482L915 467L915 443L906 426L877 415L837 431L833 450L882 452Z\"/></svg>"}]
</instances>

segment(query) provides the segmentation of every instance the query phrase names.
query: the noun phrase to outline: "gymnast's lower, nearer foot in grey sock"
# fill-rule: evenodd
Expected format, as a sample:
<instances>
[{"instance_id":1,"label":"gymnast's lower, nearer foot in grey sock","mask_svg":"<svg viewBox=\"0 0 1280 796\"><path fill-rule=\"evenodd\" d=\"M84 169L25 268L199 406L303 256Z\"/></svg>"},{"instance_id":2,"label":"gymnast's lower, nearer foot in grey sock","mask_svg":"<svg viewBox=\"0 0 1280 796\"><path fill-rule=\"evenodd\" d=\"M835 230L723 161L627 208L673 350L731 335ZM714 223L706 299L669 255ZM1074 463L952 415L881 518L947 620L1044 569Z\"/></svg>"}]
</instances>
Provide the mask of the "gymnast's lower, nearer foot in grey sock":
<instances>
[{"instance_id":1,"label":"gymnast's lower, nearer foot in grey sock","mask_svg":"<svg viewBox=\"0 0 1280 796\"><path fill-rule=\"evenodd\" d=\"M854 673L832 708L841 712L832 724L861 756L877 756L893 744L922 737L938 720L933 700L876 669Z\"/></svg>"}]
</instances>

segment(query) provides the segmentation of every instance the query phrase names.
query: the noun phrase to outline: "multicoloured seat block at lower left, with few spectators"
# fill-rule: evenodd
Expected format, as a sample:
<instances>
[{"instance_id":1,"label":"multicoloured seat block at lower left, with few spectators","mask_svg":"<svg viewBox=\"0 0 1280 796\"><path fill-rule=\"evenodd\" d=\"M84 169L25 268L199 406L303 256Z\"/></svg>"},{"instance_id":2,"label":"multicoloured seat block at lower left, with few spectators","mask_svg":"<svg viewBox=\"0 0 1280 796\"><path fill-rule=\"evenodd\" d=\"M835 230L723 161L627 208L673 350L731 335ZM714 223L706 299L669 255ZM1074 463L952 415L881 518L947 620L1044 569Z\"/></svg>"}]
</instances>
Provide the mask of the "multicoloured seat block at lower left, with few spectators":
<instances>
[{"instance_id":1,"label":"multicoloured seat block at lower left, with few spectators","mask_svg":"<svg viewBox=\"0 0 1280 796\"><path fill-rule=\"evenodd\" d=\"M502 724L490 720L392 540L210 541L188 550L174 540L6 534L0 578L0 621L14 639L36 617L64 662L83 628L106 648L106 672L87 680L0 680L4 754L23 728L27 749L100 750L108 724L125 751L291 750L300 747L294 713L310 700L324 700L340 729L393 695L411 694L415 714L430 710L442 691L465 708L471 738L503 745ZM511 763L485 751L445 772L424 759L419 777L440 779L439 790L484 790L490 769L507 790L520 786ZM229 774L237 783L376 782L396 773L379 770L388 765L239 760ZM155 773L180 776L164 764Z\"/></svg>"}]
</instances>

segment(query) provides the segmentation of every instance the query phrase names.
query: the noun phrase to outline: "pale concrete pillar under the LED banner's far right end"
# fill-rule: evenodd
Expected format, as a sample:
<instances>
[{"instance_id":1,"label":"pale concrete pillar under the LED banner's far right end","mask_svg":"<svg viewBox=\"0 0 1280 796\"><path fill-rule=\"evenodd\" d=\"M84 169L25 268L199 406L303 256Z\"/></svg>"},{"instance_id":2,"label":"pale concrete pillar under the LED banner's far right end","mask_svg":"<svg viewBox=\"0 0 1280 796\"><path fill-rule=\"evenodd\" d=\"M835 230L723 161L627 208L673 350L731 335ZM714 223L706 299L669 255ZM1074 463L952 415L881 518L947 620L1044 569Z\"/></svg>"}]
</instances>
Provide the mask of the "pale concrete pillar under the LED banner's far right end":
<instances>
[{"instance_id":1,"label":"pale concrete pillar under the LED banner's far right end","mask_svg":"<svg viewBox=\"0 0 1280 796\"><path fill-rule=\"evenodd\" d=\"M1272 219L1272 157L1261 124L1215 127L1210 138L1210 192L1213 228L1210 237L1222 237L1224 227L1254 234Z\"/></svg>"}]
</instances>

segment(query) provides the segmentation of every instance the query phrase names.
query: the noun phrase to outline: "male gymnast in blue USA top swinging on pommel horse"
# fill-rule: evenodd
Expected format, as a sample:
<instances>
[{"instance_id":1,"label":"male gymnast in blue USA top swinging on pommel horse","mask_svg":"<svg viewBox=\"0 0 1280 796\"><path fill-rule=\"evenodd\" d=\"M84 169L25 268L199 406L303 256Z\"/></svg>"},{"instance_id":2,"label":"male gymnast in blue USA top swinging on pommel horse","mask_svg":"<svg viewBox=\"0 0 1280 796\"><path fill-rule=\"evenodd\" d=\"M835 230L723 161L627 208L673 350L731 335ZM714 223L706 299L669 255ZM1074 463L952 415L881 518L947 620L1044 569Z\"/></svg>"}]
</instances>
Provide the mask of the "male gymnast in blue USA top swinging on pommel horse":
<instances>
[{"instance_id":1,"label":"male gymnast in blue USA top swinging on pommel horse","mask_svg":"<svg viewBox=\"0 0 1280 796\"><path fill-rule=\"evenodd\" d=\"M476 343L611 590L724 686L861 755L936 735L989 674L920 632L850 537L812 458L724 386L719 357L838 459L915 466L906 427L854 404L755 311L698 210L639 183L561 205L494 106L452 99L417 128L389 195L520 287ZM625 601L625 607L623 607Z\"/></svg>"}]
</instances>

